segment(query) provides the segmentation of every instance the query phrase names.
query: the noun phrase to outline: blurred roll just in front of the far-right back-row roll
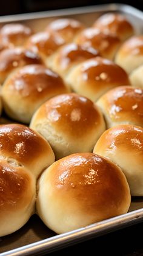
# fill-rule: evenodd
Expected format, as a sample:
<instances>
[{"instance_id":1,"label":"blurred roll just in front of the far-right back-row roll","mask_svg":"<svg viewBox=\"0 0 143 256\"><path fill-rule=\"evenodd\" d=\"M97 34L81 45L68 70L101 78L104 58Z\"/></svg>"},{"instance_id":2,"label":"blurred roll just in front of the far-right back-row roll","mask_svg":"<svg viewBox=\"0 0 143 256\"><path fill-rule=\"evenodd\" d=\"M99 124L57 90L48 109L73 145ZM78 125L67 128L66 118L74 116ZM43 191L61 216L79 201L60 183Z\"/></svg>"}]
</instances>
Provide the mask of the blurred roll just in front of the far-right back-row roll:
<instances>
[{"instance_id":1,"label":"blurred roll just in front of the far-right back-row roll","mask_svg":"<svg viewBox=\"0 0 143 256\"><path fill-rule=\"evenodd\" d=\"M102 57L111 60L115 57L116 51L121 44L121 40L116 35L102 32L96 28L83 30L75 41L87 47L95 47L95 49L99 50Z\"/></svg>"}]
</instances>

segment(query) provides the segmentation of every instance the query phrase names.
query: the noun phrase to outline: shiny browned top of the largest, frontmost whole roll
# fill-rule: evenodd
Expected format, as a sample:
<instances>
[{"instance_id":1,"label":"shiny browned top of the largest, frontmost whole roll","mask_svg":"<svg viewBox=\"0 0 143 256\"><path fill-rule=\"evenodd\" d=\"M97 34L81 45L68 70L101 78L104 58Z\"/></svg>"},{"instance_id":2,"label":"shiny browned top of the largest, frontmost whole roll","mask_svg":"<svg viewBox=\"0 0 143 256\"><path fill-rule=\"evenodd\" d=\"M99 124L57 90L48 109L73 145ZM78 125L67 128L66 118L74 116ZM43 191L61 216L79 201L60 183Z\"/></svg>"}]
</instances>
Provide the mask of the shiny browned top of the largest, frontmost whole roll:
<instances>
[{"instance_id":1,"label":"shiny browned top of the largest, frontmost whole roll","mask_svg":"<svg viewBox=\"0 0 143 256\"><path fill-rule=\"evenodd\" d=\"M130 201L122 171L98 154L77 153L60 159L49 168L48 181L55 198L57 195L62 205L68 203L69 208L78 209L78 214L80 209L87 215L98 212L99 218L102 214L109 218L118 214L121 204Z\"/></svg>"}]
</instances>

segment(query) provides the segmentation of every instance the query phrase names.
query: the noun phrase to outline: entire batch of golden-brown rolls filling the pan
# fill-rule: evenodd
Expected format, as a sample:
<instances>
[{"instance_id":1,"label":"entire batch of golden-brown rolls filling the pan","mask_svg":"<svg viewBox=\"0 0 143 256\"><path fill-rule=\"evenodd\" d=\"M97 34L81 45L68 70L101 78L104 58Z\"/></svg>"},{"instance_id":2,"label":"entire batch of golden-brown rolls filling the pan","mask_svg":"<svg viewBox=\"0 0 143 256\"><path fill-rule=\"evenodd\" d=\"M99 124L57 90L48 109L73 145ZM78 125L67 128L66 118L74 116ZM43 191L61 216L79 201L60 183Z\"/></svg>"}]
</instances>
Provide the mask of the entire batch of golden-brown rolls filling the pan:
<instances>
[{"instance_id":1,"label":"entire batch of golden-brown rolls filling the pan","mask_svg":"<svg viewBox=\"0 0 143 256\"><path fill-rule=\"evenodd\" d=\"M6 24L0 50L15 122L0 125L0 236L34 213L58 234L127 213L143 196L143 36L107 13Z\"/></svg>"}]
</instances>

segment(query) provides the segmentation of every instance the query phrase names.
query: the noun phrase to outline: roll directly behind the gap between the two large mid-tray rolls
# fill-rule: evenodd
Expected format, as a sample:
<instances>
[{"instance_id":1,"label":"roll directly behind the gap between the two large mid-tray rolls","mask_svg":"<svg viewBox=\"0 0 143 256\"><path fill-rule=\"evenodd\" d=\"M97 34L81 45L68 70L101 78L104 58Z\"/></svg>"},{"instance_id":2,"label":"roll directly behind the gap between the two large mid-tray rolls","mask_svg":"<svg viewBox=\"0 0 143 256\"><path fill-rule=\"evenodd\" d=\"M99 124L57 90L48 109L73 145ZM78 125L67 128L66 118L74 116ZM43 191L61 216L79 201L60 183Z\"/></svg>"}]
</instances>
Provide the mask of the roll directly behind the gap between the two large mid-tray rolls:
<instances>
[{"instance_id":1,"label":"roll directly behind the gap between the two large mid-tray rolls","mask_svg":"<svg viewBox=\"0 0 143 256\"><path fill-rule=\"evenodd\" d=\"M79 46L75 43L62 46L49 61L49 66L63 77L77 64L99 55L98 50L92 47Z\"/></svg>"}]
</instances>

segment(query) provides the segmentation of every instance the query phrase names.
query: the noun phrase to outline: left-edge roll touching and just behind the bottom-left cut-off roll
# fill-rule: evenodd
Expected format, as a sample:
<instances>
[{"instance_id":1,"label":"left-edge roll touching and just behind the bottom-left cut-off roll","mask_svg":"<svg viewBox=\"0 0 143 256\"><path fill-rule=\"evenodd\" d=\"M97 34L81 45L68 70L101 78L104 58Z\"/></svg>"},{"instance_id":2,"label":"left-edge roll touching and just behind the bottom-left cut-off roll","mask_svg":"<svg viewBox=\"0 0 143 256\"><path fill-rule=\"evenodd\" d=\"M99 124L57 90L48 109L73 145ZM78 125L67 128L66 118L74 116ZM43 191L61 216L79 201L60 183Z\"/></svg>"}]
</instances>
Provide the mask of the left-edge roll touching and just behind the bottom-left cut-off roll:
<instances>
[{"instance_id":1,"label":"left-edge roll touching and just behind the bottom-left cut-off roll","mask_svg":"<svg viewBox=\"0 0 143 256\"><path fill-rule=\"evenodd\" d=\"M15 168L24 166L36 178L55 161L48 142L27 126L0 125L0 137L0 162L7 161Z\"/></svg>"}]
</instances>

